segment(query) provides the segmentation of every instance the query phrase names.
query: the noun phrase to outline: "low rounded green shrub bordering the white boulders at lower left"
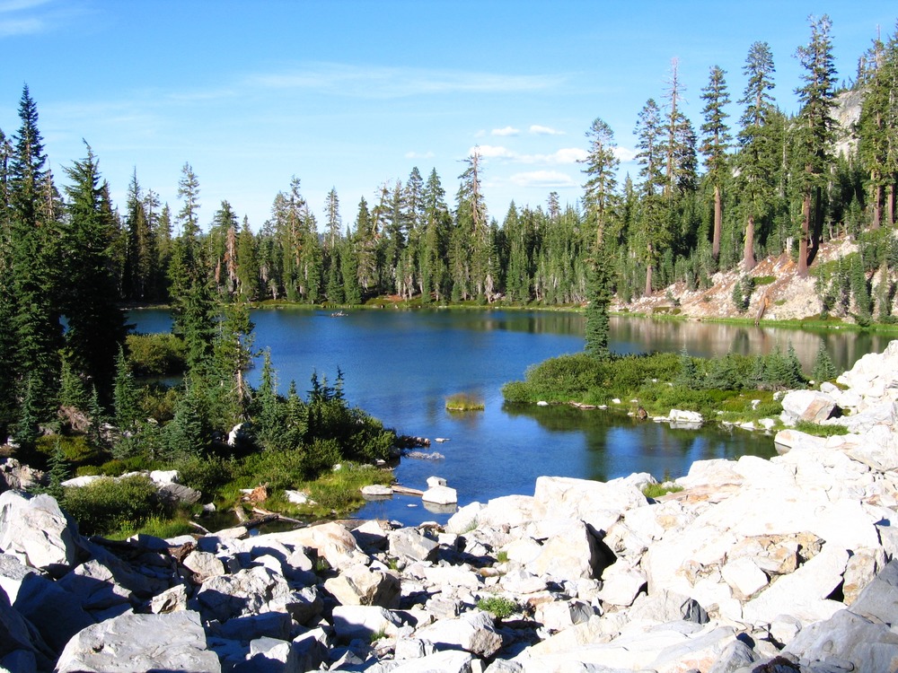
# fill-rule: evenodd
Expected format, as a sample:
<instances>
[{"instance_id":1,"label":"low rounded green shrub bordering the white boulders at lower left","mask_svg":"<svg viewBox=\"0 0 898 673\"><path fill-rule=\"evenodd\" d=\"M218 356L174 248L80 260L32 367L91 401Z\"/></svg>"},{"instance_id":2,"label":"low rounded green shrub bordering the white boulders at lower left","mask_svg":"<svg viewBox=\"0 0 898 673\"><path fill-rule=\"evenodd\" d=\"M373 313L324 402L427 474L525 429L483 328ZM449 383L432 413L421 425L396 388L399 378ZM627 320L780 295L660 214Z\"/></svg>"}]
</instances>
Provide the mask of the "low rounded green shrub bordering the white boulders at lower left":
<instances>
[{"instance_id":1,"label":"low rounded green shrub bordering the white boulders at lower left","mask_svg":"<svg viewBox=\"0 0 898 673\"><path fill-rule=\"evenodd\" d=\"M156 499L155 485L145 476L100 479L66 488L64 506L84 535L114 533L168 513Z\"/></svg>"}]
</instances>

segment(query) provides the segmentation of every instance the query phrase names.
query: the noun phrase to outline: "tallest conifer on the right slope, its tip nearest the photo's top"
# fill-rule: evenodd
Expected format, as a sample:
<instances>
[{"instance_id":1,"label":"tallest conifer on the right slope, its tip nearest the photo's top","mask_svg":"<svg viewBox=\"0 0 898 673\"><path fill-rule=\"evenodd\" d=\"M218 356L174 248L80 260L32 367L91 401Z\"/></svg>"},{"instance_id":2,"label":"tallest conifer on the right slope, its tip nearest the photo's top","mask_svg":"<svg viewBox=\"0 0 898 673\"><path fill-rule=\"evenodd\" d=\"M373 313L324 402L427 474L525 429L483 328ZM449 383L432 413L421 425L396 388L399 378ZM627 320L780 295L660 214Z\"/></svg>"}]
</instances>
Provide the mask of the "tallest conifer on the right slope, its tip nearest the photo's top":
<instances>
[{"instance_id":1,"label":"tallest conifer on the right slope, its tip nearest the photo's top","mask_svg":"<svg viewBox=\"0 0 898 673\"><path fill-rule=\"evenodd\" d=\"M826 14L819 20L811 17L810 22L811 39L796 54L805 68L802 75L805 84L797 90L802 108L795 134L797 162L804 165L804 170L797 171L796 175L797 188L802 193L797 265L797 274L801 276L807 275L807 266L816 253L823 228L823 188L832 164L835 127L831 115L836 84L830 38L832 22Z\"/></svg>"}]
</instances>

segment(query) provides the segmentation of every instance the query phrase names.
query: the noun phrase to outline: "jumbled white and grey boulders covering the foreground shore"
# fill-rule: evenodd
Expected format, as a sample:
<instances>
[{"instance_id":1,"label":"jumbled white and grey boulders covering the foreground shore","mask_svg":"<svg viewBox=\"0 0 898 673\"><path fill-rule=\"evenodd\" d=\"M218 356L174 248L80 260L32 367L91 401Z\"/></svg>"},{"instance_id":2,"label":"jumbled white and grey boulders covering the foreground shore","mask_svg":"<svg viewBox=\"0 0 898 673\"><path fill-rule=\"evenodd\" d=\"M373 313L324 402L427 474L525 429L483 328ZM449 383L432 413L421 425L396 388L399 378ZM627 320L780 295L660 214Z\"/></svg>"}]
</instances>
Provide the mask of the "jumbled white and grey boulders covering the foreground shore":
<instances>
[{"instance_id":1,"label":"jumbled white and grey boulders covering the foreground shore","mask_svg":"<svg viewBox=\"0 0 898 673\"><path fill-rule=\"evenodd\" d=\"M783 420L849 434L780 432L658 500L646 474L544 476L445 527L110 543L6 491L0 669L898 670L898 341L839 382Z\"/></svg>"}]
</instances>

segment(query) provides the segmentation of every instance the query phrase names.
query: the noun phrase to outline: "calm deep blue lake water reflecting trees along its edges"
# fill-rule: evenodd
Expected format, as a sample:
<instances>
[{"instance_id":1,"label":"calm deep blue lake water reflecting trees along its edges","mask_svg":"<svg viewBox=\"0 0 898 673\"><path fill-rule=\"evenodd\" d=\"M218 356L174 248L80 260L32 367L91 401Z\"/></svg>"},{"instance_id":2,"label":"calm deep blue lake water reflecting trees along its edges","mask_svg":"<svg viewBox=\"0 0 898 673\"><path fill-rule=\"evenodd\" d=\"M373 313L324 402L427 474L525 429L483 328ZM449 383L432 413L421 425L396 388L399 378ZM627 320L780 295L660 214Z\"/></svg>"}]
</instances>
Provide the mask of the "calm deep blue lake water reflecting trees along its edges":
<instances>
[{"instance_id":1,"label":"calm deep blue lake water reflecting trees along its edges","mask_svg":"<svg viewBox=\"0 0 898 673\"><path fill-rule=\"evenodd\" d=\"M339 367L350 404L397 432L448 441L431 445L445 459L403 459L402 485L427 488L444 477L459 504L507 494L533 494L541 475L611 479L632 472L685 474L694 460L769 457L772 439L759 433L706 427L671 430L625 415L570 407L506 406L501 386L519 380L533 363L583 349L584 318L577 313L488 310L358 310L346 317L309 310L256 310L256 345L268 347L279 387L295 380L309 388L313 371L331 382ZM167 312L130 314L138 331L171 327ZM711 323L612 318L612 350L618 353L679 351L720 356L768 353L791 342L809 370L821 340L836 366L881 351L889 337L849 332L807 332ZM258 384L260 368L251 371ZM451 414L445 398L467 392L485 403L482 412ZM357 516L416 524L445 521L418 498L394 496L370 503Z\"/></svg>"}]
</instances>

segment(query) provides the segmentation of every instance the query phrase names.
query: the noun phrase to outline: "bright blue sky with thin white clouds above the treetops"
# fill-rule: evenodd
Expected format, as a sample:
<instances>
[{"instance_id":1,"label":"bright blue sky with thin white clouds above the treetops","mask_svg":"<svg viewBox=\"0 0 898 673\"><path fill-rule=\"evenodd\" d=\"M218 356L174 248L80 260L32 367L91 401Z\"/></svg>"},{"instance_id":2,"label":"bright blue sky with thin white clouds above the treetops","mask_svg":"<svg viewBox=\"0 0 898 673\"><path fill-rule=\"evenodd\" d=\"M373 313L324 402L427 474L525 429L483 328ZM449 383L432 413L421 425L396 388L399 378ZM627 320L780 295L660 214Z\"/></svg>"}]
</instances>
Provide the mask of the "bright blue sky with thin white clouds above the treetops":
<instances>
[{"instance_id":1,"label":"bright blue sky with thin white clouds above the treetops","mask_svg":"<svg viewBox=\"0 0 898 673\"><path fill-rule=\"evenodd\" d=\"M629 5L629 6L625 6ZM749 46L767 41L779 106L796 111L807 17L828 13L840 78L898 6L877 0L746 2L232 2L0 0L0 128L13 135L28 83L57 182L100 160L119 209L132 172L177 212L181 167L207 224L223 199L253 231L292 176L321 222L336 188L358 201L436 168L453 203L462 160L484 157L489 214L581 196L577 158L603 118L627 159L639 109L679 59L698 127L709 67L734 101ZM731 107L735 125L739 106ZM624 170L635 174L631 163Z\"/></svg>"}]
</instances>

